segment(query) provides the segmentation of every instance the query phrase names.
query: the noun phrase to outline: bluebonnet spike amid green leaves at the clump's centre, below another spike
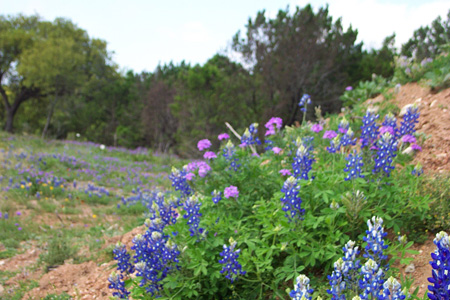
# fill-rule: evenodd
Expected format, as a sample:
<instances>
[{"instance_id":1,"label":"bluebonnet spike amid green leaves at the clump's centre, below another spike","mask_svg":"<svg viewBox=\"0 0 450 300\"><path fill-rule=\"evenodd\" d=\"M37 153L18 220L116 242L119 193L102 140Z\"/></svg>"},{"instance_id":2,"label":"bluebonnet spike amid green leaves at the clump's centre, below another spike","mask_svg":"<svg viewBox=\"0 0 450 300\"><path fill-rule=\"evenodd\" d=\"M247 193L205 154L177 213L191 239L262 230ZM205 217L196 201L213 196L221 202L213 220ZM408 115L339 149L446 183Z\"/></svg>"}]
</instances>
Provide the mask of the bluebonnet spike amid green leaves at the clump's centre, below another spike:
<instances>
[{"instance_id":1,"label":"bluebonnet spike amid green leaves at the clump's centre, below another spike","mask_svg":"<svg viewBox=\"0 0 450 300\"><path fill-rule=\"evenodd\" d=\"M290 176L283 184L281 191L284 197L281 198L283 203L283 211L286 213L286 218L290 221L302 219L305 210L301 208L302 199L299 196L300 185L298 179Z\"/></svg>"}]
</instances>

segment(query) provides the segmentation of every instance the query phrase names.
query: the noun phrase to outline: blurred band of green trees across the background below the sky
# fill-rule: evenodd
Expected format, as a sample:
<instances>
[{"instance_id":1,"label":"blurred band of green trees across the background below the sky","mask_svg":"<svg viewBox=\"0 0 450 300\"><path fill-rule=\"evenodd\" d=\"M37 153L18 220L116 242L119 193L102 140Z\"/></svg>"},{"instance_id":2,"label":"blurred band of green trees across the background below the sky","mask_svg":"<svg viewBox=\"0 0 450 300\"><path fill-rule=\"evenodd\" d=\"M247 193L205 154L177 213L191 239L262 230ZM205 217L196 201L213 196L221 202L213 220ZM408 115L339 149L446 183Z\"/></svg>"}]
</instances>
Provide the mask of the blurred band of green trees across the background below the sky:
<instances>
[{"instance_id":1,"label":"blurred band of green trees across the background below the sky","mask_svg":"<svg viewBox=\"0 0 450 300\"><path fill-rule=\"evenodd\" d=\"M387 80L398 55L434 58L450 41L450 12L421 27L401 50L395 34L380 49L363 49L358 31L333 20L328 7L265 11L203 65L185 62L153 72L122 72L107 44L65 19L0 16L0 121L8 132L82 139L108 145L195 155L202 138L216 141L230 122L238 132L273 116L301 120L298 102L312 97L322 112L339 111L347 86ZM263 127L263 126L261 126ZM260 128L260 131L264 131Z\"/></svg>"}]
</instances>

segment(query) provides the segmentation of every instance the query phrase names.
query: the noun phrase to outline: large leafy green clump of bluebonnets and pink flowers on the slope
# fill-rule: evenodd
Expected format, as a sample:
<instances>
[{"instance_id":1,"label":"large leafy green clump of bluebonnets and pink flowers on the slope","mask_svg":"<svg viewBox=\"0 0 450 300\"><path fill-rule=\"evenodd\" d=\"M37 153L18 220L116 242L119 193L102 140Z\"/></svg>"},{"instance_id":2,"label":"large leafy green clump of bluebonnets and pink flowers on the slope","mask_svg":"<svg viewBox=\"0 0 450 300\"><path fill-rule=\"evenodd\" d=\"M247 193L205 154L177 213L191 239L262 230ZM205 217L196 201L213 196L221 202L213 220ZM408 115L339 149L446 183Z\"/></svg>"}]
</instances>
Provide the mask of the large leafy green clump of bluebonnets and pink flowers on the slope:
<instances>
[{"instance_id":1,"label":"large leafy green clump of bluebonnets and pink flowers on the slope","mask_svg":"<svg viewBox=\"0 0 450 300\"><path fill-rule=\"evenodd\" d=\"M299 103L305 110L310 104L307 95ZM264 144L258 124L242 135L229 125L229 134L218 136L217 151L200 140L205 160L173 168L172 190L139 196L149 208L147 231L135 237L131 249L116 245L118 269L109 278L113 295L311 299L312 292L305 294L309 279L298 277L309 273L319 286L315 296L342 299L343 288L327 293L326 275L332 273L334 285L340 280L343 245L345 253L361 249L369 258L368 265L353 267L362 281L355 281L347 296L382 299L385 282L397 292L391 276L398 270L389 268L387 259L409 262L405 253L412 242L404 234L419 238L412 229L426 223L429 211L430 199L418 192L423 170L408 165L411 153L420 150L419 112L410 106L401 121L372 109L362 122L350 123L354 117L325 121L319 113L318 123L285 130L280 118L272 118ZM368 231L367 220L372 220ZM383 240L383 226L390 240ZM365 292L373 280L377 292Z\"/></svg>"}]
</instances>

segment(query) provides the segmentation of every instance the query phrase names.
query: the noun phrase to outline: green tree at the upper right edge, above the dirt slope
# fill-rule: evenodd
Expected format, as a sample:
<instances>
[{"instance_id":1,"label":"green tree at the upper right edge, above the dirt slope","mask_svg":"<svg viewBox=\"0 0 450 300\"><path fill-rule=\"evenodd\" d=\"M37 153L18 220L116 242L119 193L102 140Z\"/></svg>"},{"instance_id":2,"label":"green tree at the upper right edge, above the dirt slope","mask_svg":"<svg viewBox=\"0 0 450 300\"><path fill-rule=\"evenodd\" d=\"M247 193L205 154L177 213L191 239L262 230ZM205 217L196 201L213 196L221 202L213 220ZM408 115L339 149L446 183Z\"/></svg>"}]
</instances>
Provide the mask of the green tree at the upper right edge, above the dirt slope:
<instances>
[{"instance_id":1,"label":"green tree at the upper right edge, above the dirt slope","mask_svg":"<svg viewBox=\"0 0 450 300\"><path fill-rule=\"evenodd\" d=\"M441 46L450 43L450 10L447 20L437 17L430 26L414 31L412 38L402 45L402 55L415 57L418 61L435 58L441 53Z\"/></svg>"}]
</instances>

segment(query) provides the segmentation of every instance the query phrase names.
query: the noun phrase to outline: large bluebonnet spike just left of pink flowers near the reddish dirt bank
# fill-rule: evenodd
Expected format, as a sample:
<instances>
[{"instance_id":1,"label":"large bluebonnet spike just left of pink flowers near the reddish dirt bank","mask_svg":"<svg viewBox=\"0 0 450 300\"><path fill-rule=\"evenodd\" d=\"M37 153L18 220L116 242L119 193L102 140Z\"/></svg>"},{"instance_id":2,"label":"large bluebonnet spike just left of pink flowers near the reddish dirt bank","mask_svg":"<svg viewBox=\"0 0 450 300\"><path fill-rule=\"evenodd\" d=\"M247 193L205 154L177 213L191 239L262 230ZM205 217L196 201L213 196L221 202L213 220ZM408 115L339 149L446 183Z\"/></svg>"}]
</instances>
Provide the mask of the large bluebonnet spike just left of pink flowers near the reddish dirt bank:
<instances>
[{"instance_id":1,"label":"large bluebonnet spike just left of pink flowers near the reddish dirt bank","mask_svg":"<svg viewBox=\"0 0 450 300\"><path fill-rule=\"evenodd\" d=\"M386 176L389 177L391 171L395 168L395 166L392 166L392 162L397 155L395 153L397 151L397 141L389 132L386 132L381 136L377 146L377 157L375 158L375 166L372 172L375 174L383 170Z\"/></svg>"}]
</instances>

